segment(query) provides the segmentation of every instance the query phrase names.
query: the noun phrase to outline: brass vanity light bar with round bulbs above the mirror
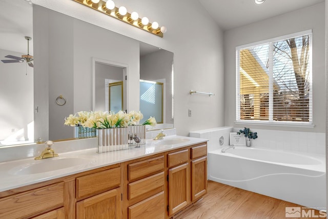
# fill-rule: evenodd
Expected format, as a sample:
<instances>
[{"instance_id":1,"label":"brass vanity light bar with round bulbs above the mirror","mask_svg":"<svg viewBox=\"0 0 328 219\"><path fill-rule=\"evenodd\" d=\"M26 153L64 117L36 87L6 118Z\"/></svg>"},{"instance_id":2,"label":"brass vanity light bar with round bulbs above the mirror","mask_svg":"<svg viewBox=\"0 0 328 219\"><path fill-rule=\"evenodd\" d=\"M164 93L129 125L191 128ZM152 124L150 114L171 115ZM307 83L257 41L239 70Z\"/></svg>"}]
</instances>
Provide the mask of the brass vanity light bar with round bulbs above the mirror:
<instances>
[{"instance_id":1,"label":"brass vanity light bar with round bulbs above the mirror","mask_svg":"<svg viewBox=\"0 0 328 219\"><path fill-rule=\"evenodd\" d=\"M73 0L74 2L78 2L82 5L88 6L96 11L107 14L111 17L119 19L122 22L130 24L134 27L145 30L149 33L155 34L156 36L163 37L163 33L166 32L166 27L159 27L157 22L149 23L149 19L147 17L138 17L138 13L132 12L131 14L127 12L127 9L124 6L119 8L115 7L113 1L110 1L112 4L109 4L106 7L106 2L102 0ZM109 9L112 8L112 9Z\"/></svg>"}]
</instances>

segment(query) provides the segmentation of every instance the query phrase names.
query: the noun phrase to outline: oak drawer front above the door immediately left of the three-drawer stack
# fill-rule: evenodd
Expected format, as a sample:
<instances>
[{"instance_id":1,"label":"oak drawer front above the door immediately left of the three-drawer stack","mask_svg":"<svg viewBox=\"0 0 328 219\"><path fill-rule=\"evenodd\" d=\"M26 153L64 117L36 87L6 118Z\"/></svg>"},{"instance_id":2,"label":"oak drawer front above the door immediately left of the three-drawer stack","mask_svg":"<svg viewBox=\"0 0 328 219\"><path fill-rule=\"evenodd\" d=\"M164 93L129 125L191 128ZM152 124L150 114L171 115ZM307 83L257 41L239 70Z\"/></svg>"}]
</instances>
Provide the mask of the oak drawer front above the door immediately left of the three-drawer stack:
<instances>
[{"instance_id":1,"label":"oak drawer front above the door immediately left of the three-drawer stack","mask_svg":"<svg viewBox=\"0 0 328 219\"><path fill-rule=\"evenodd\" d=\"M120 167L101 171L76 178L76 197L81 198L91 194L116 188L121 183Z\"/></svg>"}]
</instances>

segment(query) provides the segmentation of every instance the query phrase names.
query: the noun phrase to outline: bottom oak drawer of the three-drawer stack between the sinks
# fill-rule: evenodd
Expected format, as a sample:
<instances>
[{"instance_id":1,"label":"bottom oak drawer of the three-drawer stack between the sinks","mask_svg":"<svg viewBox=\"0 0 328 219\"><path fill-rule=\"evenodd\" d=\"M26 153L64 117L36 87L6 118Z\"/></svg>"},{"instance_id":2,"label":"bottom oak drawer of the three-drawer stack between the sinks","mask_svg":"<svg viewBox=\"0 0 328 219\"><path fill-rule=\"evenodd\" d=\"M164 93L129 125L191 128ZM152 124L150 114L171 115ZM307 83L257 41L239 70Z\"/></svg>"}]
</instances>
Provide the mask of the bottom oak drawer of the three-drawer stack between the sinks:
<instances>
[{"instance_id":1,"label":"bottom oak drawer of the three-drawer stack between the sinks","mask_svg":"<svg viewBox=\"0 0 328 219\"><path fill-rule=\"evenodd\" d=\"M129 207L129 219L133 218L165 218L165 195L160 192L146 200Z\"/></svg>"}]
</instances>

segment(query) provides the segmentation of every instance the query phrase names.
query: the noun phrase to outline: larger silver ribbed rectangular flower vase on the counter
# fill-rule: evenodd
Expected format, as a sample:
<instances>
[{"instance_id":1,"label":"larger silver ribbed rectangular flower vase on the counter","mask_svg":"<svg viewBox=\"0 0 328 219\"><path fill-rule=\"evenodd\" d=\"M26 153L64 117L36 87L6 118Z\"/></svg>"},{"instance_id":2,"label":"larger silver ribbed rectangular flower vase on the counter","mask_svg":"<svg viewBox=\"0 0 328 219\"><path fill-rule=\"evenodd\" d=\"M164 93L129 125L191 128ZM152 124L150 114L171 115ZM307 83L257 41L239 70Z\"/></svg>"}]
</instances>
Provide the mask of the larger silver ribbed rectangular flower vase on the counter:
<instances>
[{"instance_id":1,"label":"larger silver ribbed rectangular flower vase on the counter","mask_svg":"<svg viewBox=\"0 0 328 219\"><path fill-rule=\"evenodd\" d=\"M97 129L97 153L129 149L128 128Z\"/></svg>"}]
</instances>

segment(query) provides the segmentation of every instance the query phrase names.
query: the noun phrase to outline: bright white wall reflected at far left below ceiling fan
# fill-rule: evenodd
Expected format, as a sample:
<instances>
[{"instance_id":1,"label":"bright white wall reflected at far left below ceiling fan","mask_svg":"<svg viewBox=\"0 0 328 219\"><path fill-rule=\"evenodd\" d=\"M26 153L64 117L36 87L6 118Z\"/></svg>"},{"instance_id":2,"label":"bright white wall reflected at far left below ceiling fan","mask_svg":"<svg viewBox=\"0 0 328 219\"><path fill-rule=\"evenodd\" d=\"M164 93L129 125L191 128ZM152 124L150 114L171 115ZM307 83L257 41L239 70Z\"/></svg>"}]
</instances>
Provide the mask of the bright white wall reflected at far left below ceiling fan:
<instances>
[{"instance_id":1,"label":"bright white wall reflected at far left below ceiling fan","mask_svg":"<svg viewBox=\"0 0 328 219\"><path fill-rule=\"evenodd\" d=\"M10 60L5 56L20 57L22 54L25 53L0 49L0 59ZM26 62L0 61L0 140L11 135L14 135L13 140L27 140L27 125L33 122L33 68L26 65ZM18 134L19 130L23 133Z\"/></svg>"}]
</instances>

